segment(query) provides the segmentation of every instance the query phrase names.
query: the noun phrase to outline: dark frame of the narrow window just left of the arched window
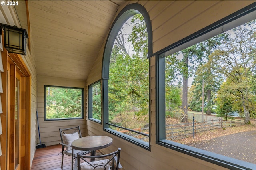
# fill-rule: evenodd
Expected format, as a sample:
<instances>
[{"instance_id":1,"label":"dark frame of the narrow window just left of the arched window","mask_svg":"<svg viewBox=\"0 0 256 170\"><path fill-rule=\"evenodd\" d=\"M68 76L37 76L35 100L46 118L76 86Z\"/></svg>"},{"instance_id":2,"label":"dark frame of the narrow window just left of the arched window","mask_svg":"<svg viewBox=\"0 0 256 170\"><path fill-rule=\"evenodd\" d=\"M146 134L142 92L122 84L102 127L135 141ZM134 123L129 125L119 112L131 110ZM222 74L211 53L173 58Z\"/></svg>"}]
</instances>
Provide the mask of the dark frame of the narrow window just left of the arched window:
<instances>
[{"instance_id":1,"label":"dark frame of the narrow window just left of the arched window","mask_svg":"<svg viewBox=\"0 0 256 170\"><path fill-rule=\"evenodd\" d=\"M102 122L102 113L101 113L101 119L95 119L95 118L93 118L93 102L92 102L92 100L93 100L93 95L92 95L92 88L93 88L93 86L95 86L95 85L100 85L100 90L101 90L101 81L99 80L99 81L96 81L96 82L94 82L94 83L92 83L92 84L90 84L89 86L88 86L88 119L89 120L91 120L91 121L94 121L94 122L96 122L96 123L100 123L101 124L101 122ZM102 103L102 93L100 93L100 95L101 95L101 97L100 97L100 101L101 101L101 103ZM101 107L101 106L100 106Z\"/></svg>"}]
</instances>

